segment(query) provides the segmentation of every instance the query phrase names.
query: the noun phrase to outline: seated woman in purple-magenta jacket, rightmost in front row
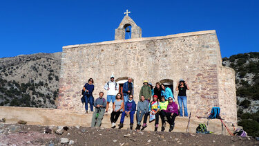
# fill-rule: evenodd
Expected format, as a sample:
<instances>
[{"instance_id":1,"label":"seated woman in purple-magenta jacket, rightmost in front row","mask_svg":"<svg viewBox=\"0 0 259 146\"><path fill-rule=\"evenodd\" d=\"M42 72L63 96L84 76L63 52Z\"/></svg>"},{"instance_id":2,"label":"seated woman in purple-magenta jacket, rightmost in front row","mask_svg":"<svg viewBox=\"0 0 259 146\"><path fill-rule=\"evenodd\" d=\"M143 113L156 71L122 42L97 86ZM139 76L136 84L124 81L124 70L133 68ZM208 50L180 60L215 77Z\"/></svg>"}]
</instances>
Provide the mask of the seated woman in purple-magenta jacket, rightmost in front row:
<instances>
[{"instance_id":1,"label":"seated woman in purple-magenta jacket, rightmost in front row","mask_svg":"<svg viewBox=\"0 0 259 146\"><path fill-rule=\"evenodd\" d=\"M166 108L166 118L167 122L169 122L171 132L173 128L175 127L175 117L178 116L178 104L173 102L173 98L169 97L169 104Z\"/></svg>"}]
</instances>

